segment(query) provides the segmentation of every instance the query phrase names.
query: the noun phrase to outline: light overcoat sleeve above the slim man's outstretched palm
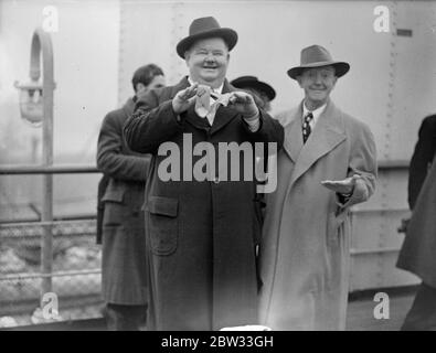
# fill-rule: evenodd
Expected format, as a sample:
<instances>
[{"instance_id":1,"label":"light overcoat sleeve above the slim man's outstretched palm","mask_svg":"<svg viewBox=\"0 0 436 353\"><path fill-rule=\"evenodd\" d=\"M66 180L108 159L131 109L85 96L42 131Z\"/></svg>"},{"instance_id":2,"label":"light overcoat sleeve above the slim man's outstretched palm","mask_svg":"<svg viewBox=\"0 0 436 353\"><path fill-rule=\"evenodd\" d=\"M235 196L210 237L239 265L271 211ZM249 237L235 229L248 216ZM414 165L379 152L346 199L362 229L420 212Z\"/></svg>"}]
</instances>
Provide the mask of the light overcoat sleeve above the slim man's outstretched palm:
<instances>
[{"instance_id":1,"label":"light overcoat sleeve above the slim man's outstretched palm","mask_svg":"<svg viewBox=\"0 0 436 353\"><path fill-rule=\"evenodd\" d=\"M360 124L351 145L348 176L359 175L352 195L341 207L350 207L371 197L377 174L374 136L366 125Z\"/></svg>"}]
</instances>

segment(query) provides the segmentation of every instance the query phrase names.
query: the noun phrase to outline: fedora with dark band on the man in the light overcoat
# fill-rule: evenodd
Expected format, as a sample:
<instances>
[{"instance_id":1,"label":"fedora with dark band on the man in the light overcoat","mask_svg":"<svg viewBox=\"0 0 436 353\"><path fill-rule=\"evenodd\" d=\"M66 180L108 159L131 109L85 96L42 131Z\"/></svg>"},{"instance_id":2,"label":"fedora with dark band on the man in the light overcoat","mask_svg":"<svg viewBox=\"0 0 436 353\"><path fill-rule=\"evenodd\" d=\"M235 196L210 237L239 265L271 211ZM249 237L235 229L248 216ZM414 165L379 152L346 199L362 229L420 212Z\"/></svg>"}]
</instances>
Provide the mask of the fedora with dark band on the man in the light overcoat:
<instances>
[{"instance_id":1,"label":"fedora with dark band on the man in the light overcoat","mask_svg":"<svg viewBox=\"0 0 436 353\"><path fill-rule=\"evenodd\" d=\"M297 79L305 68L333 66L334 75L341 77L350 69L350 64L345 62L333 61L327 49L321 45L311 45L301 51L300 66L288 69L289 77Z\"/></svg>"}]
</instances>

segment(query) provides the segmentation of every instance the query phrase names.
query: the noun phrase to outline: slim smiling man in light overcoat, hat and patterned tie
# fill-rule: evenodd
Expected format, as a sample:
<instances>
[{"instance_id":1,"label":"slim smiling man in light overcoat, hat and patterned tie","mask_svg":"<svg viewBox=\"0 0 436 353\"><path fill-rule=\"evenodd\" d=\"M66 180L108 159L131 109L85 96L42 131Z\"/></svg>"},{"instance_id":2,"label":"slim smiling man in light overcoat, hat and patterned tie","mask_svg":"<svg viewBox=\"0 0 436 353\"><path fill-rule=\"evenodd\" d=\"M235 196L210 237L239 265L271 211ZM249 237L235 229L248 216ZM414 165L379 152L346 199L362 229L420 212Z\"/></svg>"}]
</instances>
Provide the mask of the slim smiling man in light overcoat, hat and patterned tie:
<instances>
[{"instance_id":1,"label":"slim smiling man in light overcoat, hat and patterned tie","mask_svg":"<svg viewBox=\"0 0 436 353\"><path fill-rule=\"evenodd\" d=\"M260 323L273 330L345 325L349 208L371 196L376 174L370 129L329 98L349 67L312 45L288 71L305 98L280 117L287 125L277 189L266 195Z\"/></svg>"}]
</instances>

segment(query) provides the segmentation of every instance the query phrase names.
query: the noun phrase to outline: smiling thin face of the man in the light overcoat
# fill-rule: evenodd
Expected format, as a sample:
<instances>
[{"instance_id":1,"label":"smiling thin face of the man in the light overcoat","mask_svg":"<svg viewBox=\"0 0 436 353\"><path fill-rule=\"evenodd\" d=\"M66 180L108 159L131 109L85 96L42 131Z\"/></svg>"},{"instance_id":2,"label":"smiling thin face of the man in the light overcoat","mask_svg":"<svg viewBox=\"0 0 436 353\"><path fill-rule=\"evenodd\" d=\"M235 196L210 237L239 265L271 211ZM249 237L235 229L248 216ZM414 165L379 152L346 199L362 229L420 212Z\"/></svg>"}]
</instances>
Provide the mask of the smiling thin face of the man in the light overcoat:
<instances>
[{"instance_id":1,"label":"smiling thin face of the man in the light overcoat","mask_svg":"<svg viewBox=\"0 0 436 353\"><path fill-rule=\"evenodd\" d=\"M337 79L333 66L306 68L300 76L297 76L298 84L305 89L306 107L315 110L325 105Z\"/></svg>"}]
</instances>

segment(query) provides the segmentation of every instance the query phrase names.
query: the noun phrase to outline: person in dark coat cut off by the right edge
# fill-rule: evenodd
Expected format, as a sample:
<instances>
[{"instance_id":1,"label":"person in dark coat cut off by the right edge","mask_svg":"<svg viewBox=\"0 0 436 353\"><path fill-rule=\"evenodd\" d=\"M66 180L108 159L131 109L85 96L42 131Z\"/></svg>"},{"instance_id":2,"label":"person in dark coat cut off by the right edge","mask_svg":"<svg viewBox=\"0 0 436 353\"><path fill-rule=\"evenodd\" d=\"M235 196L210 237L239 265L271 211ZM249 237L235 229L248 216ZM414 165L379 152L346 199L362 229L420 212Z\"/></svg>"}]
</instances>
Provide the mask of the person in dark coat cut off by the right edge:
<instances>
[{"instance_id":1,"label":"person in dark coat cut off by the right edge","mask_svg":"<svg viewBox=\"0 0 436 353\"><path fill-rule=\"evenodd\" d=\"M408 172L412 211L396 266L422 282L402 330L436 330L436 115L426 117Z\"/></svg>"}]
</instances>

